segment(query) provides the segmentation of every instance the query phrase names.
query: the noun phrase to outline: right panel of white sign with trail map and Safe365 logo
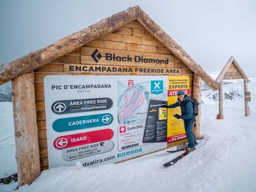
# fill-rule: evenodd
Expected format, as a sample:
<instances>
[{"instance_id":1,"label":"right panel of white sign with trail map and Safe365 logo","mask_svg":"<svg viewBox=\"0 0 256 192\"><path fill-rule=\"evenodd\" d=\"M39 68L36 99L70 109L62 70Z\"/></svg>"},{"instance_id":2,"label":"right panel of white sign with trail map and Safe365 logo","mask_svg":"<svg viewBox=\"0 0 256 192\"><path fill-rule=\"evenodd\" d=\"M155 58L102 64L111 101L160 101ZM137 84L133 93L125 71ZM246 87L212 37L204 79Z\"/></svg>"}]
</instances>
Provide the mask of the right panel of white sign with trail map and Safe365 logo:
<instances>
[{"instance_id":1,"label":"right panel of white sign with trail map and Safe365 logo","mask_svg":"<svg viewBox=\"0 0 256 192\"><path fill-rule=\"evenodd\" d=\"M166 108L161 106L164 106L167 100L167 77L116 78L117 161L166 148ZM152 107L155 110L153 114L150 110ZM144 142L148 131L153 131L153 139Z\"/></svg>"}]
</instances>

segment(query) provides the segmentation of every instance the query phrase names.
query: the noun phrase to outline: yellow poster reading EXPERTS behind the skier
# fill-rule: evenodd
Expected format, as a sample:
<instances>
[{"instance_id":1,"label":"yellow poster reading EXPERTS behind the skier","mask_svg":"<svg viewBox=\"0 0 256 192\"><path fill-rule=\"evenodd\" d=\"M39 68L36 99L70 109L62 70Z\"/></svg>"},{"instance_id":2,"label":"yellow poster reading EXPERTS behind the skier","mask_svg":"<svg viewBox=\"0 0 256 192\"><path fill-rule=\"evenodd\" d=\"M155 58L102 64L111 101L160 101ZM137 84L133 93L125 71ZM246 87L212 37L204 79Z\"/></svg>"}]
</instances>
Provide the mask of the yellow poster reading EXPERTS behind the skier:
<instances>
[{"instance_id":1,"label":"yellow poster reading EXPERTS behind the skier","mask_svg":"<svg viewBox=\"0 0 256 192\"><path fill-rule=\"evenodd\" d=\"M177 91L189 91L189 76L168 76L168 105L177 102ZM182 119L176 119L173 115L181 115L181 107L168 109L167 144L168 148L187 142L187 135Z\"/></svg>"}]
</instances>

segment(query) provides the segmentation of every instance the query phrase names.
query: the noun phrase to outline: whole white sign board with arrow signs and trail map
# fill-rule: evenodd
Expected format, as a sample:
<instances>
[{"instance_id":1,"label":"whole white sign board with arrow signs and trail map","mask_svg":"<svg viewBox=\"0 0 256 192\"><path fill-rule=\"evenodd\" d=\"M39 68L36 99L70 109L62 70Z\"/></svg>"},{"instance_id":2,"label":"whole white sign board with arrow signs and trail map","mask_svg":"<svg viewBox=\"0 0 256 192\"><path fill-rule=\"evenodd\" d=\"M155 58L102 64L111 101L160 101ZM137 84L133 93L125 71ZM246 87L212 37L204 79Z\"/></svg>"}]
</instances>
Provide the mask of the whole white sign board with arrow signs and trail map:
<instances>
[{"instance_id":1,"label":"whole white sign board with arrow signs and trail map","mask_svg":"<svg viewBox=\"0 0 256 192\"><path fill-rule=\"evenodd\" d=\"M49 75L44 87L50 168L166 148L167 77Z\"/></svg>"}]
</instances>

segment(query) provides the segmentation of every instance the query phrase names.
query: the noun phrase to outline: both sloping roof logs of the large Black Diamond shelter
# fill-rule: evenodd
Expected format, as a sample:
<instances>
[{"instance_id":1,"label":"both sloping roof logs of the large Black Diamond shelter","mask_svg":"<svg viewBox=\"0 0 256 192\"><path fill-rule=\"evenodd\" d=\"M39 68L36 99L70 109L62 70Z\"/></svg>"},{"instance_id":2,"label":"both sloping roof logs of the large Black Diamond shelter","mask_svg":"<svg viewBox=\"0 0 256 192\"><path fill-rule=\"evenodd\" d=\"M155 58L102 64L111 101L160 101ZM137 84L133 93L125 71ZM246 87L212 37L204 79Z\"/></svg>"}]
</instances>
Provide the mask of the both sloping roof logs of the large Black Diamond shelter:
<instances>
[{"instance_id":1,"label":"both sloping roof logs of the large Black Diamond shelter","mask_svg":"<svg viewBox=\"0 0 256 192\"><path fill-rule=\"evenodd\" d=\"M83 30L56 41L46 48L38 49L15 61L0 66L0 85L15 77L32 72L54 59L64 56L83 44L93 41L100 36L110 33L133 20L140 22L150 34L164 44L176 57L178 57L195 74L202 77L213 90L218 89L216 83L167 33L165 33L139 6L130 7L127 10L112 15Z\"/></svg>"}]
</instances>

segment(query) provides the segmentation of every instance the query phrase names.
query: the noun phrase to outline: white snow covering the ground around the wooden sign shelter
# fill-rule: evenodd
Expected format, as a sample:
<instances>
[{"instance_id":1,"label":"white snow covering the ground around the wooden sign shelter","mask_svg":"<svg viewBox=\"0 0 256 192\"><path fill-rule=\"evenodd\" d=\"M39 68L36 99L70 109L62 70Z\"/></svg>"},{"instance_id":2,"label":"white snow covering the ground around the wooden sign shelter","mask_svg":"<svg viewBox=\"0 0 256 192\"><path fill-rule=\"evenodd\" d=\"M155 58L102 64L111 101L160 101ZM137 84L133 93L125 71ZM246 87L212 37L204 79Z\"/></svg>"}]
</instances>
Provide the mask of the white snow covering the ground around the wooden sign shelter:
<instances>
[{"instance_id":1,"label":"white snow covering the ground around the wooden sign shelter","mask_svg":"<svg viewBox=\"0 0 256 192\"><path fill-rule=\"evenodd\" d=\"M249 117L244 116L244 98L239 96L243 95L243 81L223 86L223 92L233 97L233 100L229 100L229 96L224 100L224 120L216 120L218 99L215 101L213 95L217 92L202 92L201 135L207 144L172 167L166 168L163 164L181 152L169 154L163 150L119 164L99 167L77 164L45 170L32 185L22 186L19 191L256 191L256 78L250 80ZM0 119L6 120L0 129L1 138L5 137L2 130L6 124L10 128L6 136L13 135L11 119L5 118L11 113L10 106L1 106L1 109L6 107ZM14 154L10 159L5 158L12 152L14 141L10 145L6 142L0 143L1 157L4 157L1 176L2 173L11 175L14 169L9 172L5 169L15 167ZM8 186L0 185L0 191L13 189Z\"/></svg>"}]
</instances>

